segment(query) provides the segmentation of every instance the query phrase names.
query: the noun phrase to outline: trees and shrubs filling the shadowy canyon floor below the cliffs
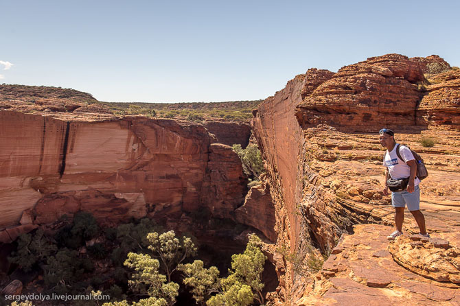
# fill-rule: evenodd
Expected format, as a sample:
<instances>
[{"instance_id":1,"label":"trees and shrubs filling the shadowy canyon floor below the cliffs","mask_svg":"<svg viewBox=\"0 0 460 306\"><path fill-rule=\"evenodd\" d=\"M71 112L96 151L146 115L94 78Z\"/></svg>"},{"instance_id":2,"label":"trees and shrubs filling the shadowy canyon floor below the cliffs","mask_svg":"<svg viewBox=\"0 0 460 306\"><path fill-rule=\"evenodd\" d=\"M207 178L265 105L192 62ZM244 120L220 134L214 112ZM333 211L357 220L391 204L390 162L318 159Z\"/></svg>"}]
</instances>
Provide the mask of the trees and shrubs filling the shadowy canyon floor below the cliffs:
<instances>
[{"instance_id":1,"label":"trees and shrubs filling the shadowy canyon floor below the cliffs","mask_svg":"<svg viewBox=\"0 0 460 306\"><path fill-rule=\"evenodd\" d=\"M112 301L106 306L173 305L184 292L196 305L264 303L266 257L255 235L242 254L231 257L231 269L222 274L196 259L194 237L177 237L148 218L102 230L93 215L80 212L59 223L55 233L37 230L21 235L9 257L23 272L35 275L34 287L42 287L43 293L109 295ZM100 304L95 300L71 305Z\"/></svg>"}]
</instances>

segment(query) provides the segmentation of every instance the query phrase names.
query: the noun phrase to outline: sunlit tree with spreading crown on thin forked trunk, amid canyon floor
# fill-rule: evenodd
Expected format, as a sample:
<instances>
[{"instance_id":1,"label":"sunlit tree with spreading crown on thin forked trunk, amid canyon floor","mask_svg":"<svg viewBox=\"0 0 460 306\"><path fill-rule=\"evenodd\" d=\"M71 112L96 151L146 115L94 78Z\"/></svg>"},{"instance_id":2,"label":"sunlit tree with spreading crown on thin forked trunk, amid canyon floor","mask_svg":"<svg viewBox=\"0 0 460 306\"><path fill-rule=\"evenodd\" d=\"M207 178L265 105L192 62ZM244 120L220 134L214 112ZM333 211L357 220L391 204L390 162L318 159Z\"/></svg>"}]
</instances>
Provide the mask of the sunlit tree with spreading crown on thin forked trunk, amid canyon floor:
<instances>
[{"instance_id":1,"label":"sunlit tree with spreading crown on thin forked trunk, amid canyon floor","mask_svg":"<svg viewBox=\"0 0 460 306\"><path fill-rule=\"evenodd\" d=\"M176 237L174 231L163 234L150 233L147 235L150 242L149 250L154 252L163 263L168 282L171 281L171 274L176 270L177 265L187 257L196 255L196 246L189 237L183 236L182 239Z\"/></svg>"}]
</instances>

